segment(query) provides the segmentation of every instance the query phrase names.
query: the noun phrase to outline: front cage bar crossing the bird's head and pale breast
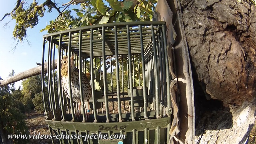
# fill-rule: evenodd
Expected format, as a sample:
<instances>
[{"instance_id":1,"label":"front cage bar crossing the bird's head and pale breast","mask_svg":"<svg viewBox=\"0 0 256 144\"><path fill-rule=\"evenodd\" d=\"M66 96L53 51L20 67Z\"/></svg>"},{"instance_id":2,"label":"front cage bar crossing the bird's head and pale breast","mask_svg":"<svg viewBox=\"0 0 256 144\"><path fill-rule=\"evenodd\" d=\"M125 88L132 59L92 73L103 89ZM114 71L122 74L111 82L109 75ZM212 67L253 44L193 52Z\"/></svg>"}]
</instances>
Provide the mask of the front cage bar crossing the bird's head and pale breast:
<instances>
[{"instance_id":1,"label":"front cage bar crossing the bird's head and pale breast","mask_svg":"<svg viewBox=\"0 0 256 144\"><path fill-rule=\"evenodd\" d=\"M71 113L72 113L72 121L74 122L74 106L73 106L73 97L72 97L72 87L71 87L71 61L70 61L70 57L71 57L71 38L72 38L72 33L69 32L69 36L68 36L68 84L69 84L69 100L70 100L70 108L71 108Z\"/></svg>"}]
</instances>

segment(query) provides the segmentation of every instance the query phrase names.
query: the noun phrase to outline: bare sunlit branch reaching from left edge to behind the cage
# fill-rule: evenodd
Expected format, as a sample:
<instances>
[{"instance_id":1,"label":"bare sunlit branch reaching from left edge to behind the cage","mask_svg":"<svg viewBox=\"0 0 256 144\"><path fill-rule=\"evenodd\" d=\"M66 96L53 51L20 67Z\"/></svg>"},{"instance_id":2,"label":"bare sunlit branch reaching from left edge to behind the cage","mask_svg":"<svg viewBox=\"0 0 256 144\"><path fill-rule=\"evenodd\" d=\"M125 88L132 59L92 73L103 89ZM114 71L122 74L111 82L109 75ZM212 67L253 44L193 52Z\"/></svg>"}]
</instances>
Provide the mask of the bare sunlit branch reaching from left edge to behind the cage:
<instances>
[{"instance_id":1,"label":"bare sunlit branch reaching from left edge to behind the cage","mask_svg":"<svg viewBox=\"0 0 256 144\"><path fill-rule=\"evenodd\" d=\"M56 60L54 60L54 69L57 68L57 64L58 64L58 60L56 59ZM53 66L53 61L52 61L52 66ZM44 63L44 74L47 73L47 67L48 67L48 62L45 62ZM27 71L24 71L24 72L21 72L21 73L15 75L15 76L8 77L5 80L0 80L0 86L12 84L14 82L18 82L20 80L26 79L31 76L40 75L41 71L42 71L41 66L31 68Z\"/></svg>"}]
</instances>

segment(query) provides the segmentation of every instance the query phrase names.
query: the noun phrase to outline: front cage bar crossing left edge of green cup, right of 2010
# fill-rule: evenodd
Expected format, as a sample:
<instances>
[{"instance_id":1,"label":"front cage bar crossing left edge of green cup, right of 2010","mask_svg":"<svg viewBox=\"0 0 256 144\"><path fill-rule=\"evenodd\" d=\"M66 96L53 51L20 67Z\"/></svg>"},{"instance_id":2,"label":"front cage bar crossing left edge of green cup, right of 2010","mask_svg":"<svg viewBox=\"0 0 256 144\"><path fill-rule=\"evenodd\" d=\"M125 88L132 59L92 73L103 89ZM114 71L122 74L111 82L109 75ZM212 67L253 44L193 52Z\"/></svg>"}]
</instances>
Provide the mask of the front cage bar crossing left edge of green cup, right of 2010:
<instances>
[{"instance_id":1,"label":"front cage bar crossing left edge of green cup, right of 2010","mask_svg":"<svg viewBox=\"0 0 256 144\"><path fill-rule=\"evenodd\" d=\"M131 107L132 107L131 111L132 111L132 121L135 121L135 118L134 118L134 105L133 105L133 88L132 88L132 52L131 52L131 39L130 39L130 28L129 28L129 25L126 25L126 29L127 29L128 57L129 57L130 96L131 96Z\"/></svg>"}]
</instances>

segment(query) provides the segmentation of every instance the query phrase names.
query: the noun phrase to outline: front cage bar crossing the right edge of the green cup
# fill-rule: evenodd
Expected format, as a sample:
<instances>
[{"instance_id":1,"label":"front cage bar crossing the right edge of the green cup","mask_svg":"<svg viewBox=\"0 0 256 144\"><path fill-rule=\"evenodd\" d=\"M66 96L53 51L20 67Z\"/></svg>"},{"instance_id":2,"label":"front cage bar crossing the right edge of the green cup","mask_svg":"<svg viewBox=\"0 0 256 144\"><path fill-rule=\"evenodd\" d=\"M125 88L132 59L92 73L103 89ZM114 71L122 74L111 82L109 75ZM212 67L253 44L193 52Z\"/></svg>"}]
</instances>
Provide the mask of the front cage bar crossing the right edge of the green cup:
<instances>
[{"instance_id":1,"label":"front cage bar crossing the right edge of the green cup","mask_svg":"<svg viewBox=\"0 0 256 144\"><path fill-rule=\"evenodd\" d=\"M141 25L139 25L139 30L140 30L140 39L143 39ZM145 117L145 120L148 120L148 116L147 116L147 99L146 99L145 58L144 58L144 45L143 45L143 41L140 41L140 51L141 51L141 59L142 59L141 62L142 62L142 78L143 78L144 117Z\"/></svg>"}]
</instances>

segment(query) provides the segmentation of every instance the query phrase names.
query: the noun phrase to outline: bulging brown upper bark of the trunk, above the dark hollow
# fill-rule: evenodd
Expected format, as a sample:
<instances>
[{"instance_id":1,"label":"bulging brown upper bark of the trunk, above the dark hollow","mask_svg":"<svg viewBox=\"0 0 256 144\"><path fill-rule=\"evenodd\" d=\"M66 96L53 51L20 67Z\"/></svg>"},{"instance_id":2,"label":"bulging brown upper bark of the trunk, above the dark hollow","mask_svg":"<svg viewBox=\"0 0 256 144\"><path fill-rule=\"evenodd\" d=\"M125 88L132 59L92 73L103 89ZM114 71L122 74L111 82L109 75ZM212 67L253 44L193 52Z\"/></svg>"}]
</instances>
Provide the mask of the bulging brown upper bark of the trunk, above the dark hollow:
<instances>
[{"instance_id":1,"label":"bulging brown upper bark of the trunk, above the dark hollow","mask_svg":"<svg viewBox=\"0 0 256 144\"><path fill-rule=\"evenodd\" d=\"M182 0L181 5L192 67L204 92L224 106L253 100L255 5L249 0Z\"/></svg>"}]
</instances>

